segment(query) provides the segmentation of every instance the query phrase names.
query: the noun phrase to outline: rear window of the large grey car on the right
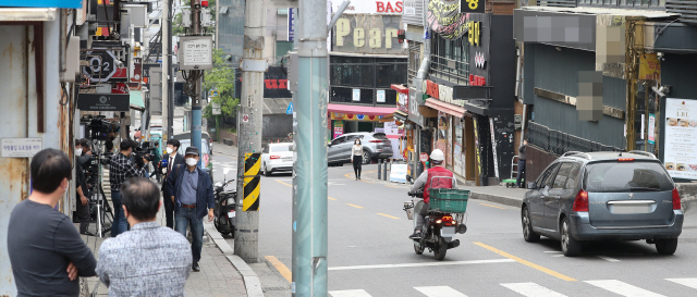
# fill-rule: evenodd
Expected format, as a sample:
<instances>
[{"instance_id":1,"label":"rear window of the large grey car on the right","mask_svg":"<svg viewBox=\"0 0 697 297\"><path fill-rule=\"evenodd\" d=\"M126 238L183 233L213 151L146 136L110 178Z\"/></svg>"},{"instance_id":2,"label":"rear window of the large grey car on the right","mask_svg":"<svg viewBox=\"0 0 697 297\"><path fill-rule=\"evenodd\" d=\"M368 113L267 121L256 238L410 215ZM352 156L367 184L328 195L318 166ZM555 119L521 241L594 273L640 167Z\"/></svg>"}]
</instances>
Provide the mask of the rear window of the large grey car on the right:
<instances>
[{"instance_id":1,"label":"rear window of the large grey car on the right","mask_svg":"<svg viewBox=\"0 0 697 297\"><path fill-rule=\"evenodd\" d=\"M585 188L590 193L672 190L671 177L659 162L600 162L586 166Z\"/></svg>"}]
</instances>

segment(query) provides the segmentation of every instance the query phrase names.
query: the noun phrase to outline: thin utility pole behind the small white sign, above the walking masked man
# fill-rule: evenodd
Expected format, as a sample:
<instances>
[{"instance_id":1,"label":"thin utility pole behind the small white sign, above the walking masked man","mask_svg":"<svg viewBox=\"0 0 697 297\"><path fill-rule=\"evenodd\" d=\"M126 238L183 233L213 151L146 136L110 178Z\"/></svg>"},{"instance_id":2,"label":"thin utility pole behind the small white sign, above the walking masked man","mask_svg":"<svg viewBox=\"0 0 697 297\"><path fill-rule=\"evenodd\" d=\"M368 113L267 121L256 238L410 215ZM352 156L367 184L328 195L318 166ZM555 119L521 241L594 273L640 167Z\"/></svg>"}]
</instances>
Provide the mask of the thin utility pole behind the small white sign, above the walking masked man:
<instances>
[{"instance_id":1,"label":"thin utility pole behind the small white sign, above the walking masked man","mask_svg":"<svg viewBox=\"0 0 697 297\"><path fill-rule=\"evenodd\" d=\"M200 35L200 0L192 1L192 34ZM201 96L201 70L193 70L191 71L189 77L195 78L196 88L192 94L192 121L191 121L191 139L192 146L198 148L198 151L203 151L201 143L200 143L200 126L201 126L201 108L203 108L203 96ZM198 160L198 165L200 166L203 158Z\"/></svg>"}]
</instances>

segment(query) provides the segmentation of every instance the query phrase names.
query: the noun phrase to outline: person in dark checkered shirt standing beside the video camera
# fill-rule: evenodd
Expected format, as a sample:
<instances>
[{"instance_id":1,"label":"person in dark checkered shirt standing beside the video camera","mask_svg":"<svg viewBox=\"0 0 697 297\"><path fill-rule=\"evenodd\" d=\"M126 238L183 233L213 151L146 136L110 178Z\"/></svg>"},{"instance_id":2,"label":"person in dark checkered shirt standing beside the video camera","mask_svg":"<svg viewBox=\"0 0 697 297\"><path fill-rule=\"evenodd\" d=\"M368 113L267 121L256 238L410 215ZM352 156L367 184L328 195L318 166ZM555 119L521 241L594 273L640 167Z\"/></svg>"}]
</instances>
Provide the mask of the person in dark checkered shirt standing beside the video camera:
<instances>
[{"instance_id":1,"label":"person in dark checkered shirt standing beside the video camera","mask_svg":"<svg viewBox=\"0 0 697 297\"><path fill-rule=\"evenodd\" d=\"M131 162L131 154L137 144L133 140L121 141L121 151L114 154L109 162L109 182L111 183L111 202L113 203L113 222L111 223L111 237L117 237L125 232L127 226L126 218L121 210L121 184L135 176L146 176L145 166L137 168ZM143 158L144 164L148 160Z\"/></svg>"}]
</instances>

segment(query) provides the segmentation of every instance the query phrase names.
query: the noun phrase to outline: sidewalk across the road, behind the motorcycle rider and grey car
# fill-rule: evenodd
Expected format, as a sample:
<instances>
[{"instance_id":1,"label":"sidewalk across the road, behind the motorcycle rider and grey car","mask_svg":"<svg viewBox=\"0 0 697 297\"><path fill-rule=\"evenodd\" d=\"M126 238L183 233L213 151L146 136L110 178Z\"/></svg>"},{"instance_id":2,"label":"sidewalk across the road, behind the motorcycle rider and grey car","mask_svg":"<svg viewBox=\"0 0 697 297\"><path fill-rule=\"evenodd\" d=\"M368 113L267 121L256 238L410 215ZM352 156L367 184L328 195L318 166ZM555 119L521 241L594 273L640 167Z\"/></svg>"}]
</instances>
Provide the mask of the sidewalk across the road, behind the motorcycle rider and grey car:
<instances>
[{"instance_id":1,"label":"sidewalk across the road, behind the motorcycle rider and grey car","mask_svg":"<svg viewBox=\"0 0 697 297\"><path fill-rule=\"evenodd\" d=\"M384 174L384 173L383 173ZM386 183L391 185L403 185L405 188L411 187L411 184L407 185L401 183L393 183L388 181L378 180L377 171L364 171L363 176L364 180L377 183ZM390 173L388 172L388 178L390 178ZM464 185L464 181L457 178L457 183L460 185ZM523 197L527 189L524 188L514 188L514 187L505 187L505 186L486 186L486 187L464 187L460 186L461 189L470 190L469 198L478 199L478 200L487 200L501 205L512 206L512 207L521 207L523 202Z\"/></svg>"}]
</instances>

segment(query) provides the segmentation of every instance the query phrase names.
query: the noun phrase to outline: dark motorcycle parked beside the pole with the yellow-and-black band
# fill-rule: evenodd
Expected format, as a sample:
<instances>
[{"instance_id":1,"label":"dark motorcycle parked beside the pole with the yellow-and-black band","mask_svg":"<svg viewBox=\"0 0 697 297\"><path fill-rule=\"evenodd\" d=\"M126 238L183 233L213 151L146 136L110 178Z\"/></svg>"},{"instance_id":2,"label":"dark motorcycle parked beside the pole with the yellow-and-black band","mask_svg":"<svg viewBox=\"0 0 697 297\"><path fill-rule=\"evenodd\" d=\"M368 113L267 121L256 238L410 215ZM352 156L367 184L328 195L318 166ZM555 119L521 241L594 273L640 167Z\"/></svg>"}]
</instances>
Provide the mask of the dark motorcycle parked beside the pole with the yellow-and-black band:
<instances>
[{"instance_id":1,"label":"dark motorcycle parked beside the pole with the yellow-and-black band","mask_svg":"<svg viewBox=\"0 0 697 297\"><path fill-rule=\"evenodd\" d=\"M235 207L237 206L237 190L225 190L228 184L234 182L234 180L227 181L224 176L228 175L230 169L223 170L223 182L218 182L213 185L216 193L216 207L213 208L213 225L216 230L222 235L231 234L235 236Z\"/></svg>"}]
</instances>

